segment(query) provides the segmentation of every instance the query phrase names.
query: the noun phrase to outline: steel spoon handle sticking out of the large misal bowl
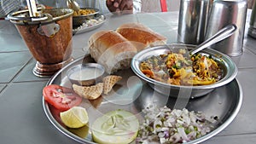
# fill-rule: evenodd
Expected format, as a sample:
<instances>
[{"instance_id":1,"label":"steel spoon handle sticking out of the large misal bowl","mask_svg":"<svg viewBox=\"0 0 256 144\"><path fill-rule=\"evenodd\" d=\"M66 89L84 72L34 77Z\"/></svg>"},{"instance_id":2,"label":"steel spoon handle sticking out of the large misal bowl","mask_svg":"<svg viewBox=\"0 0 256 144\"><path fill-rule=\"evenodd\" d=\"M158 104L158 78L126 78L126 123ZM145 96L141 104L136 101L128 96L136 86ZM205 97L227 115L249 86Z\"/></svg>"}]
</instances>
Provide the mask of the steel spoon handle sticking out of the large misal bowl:
<instances>
[{"instance_id":1,"label":"steel spoon handle sticking out of the large misal bowl","mask_svg":"<svg viewBox=\"0 0 256 144\"><path fill-rule=\"evenodd\" d=\"M195 53L201 51L201 49L205 49L214 43L218 43L219 41L223 40L224 38L230 37L236 31L236 25L229 25L225 26L221 30L219 30L216 34L212 37L208 38L205 42L201 43L195 49L190 50L190 55L194 55Z\"/></svg>"}]
</instances>

